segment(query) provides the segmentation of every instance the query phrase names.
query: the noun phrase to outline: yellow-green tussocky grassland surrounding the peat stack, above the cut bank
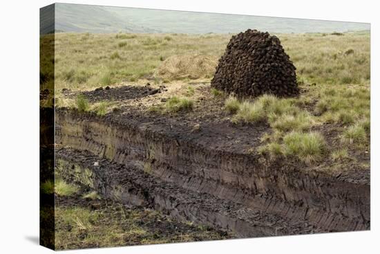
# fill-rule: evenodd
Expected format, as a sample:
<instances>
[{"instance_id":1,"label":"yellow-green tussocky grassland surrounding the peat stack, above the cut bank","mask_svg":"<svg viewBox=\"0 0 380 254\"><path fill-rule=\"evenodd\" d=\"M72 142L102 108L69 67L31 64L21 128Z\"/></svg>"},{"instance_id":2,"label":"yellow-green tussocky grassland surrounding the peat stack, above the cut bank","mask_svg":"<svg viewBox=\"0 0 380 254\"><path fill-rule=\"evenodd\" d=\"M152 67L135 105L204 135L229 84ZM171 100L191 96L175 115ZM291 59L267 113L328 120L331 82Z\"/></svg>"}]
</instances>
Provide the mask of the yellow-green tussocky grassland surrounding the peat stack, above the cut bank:
<instances>
[{"instance_id":1,"label":"yellow-green tussocky grassland surrounding the peat stack, above the cut bank","mask_svg":"<svg viewBox=\"0 0 380 254\"><path fill-rule=\"evenodd\" d=\"M277 36L296 66L298 84L303 91L301 96L289 99L262 96L241 101L211 89L215 98L225 100L231 121L269 123L272 131L263 136L258 152L269 154L271 158L289 156L313 163L326 156L332 161L342 161L352 157L352 153L368 153L370 33ZM115 107L112 102L91 105L86 98L67 102L61 89L91 90L146 82L174 87L180 83L188 87L183 98L173 96L149 110L158 114L176 111L186 114L195 106L194 91L186 84L193 77L205 82L211 80L213 68L210 65L216 66L230 38L231 35L215 34L58 33L55 47L57 106L77 107L102 116ZM208 61L206 67L193 68L191 55L200 55L203 62ZM204 64L197 61L196 66ZM162 69L190 73L162 75ZM327 131L326 125L338 132L330 138L330 143L325 141L323 133Z\"/></svg>"}]
</instances>

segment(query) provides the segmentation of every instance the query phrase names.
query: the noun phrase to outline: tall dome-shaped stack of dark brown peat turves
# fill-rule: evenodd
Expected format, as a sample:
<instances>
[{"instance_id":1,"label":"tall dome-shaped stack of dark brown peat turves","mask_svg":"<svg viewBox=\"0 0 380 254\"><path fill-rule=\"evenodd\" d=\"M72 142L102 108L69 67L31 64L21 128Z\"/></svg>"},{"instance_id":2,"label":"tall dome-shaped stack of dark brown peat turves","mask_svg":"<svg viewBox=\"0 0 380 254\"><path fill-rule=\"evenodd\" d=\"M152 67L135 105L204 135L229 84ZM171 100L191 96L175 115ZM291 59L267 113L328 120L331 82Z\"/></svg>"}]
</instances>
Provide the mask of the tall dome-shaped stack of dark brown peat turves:
<instances>
[{"instance_id":1,"label":"tall dome-shaped stack of dark brown peat turves","mask_svg":"<svg viewBox=\"0 0 380 254\"><path fill-rule=\"evenodd\" d=\"M234 35L220 60L211 87L238 96L272 93L296 96L296 67L280 40L269 33L248 29Z\"/></svg>"}]
</instances>

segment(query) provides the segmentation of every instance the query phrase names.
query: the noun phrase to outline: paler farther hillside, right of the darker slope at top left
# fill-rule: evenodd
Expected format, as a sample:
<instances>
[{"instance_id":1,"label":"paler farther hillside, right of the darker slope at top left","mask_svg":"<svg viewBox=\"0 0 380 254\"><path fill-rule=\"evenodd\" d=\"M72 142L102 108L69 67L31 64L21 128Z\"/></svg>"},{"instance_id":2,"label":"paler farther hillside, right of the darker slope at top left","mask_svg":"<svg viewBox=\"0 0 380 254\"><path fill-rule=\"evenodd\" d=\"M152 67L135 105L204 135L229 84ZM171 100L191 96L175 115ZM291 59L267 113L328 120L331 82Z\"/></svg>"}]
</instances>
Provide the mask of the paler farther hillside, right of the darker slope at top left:
<instances>
[{"instance_id":1,"label":"paler farther hillside, right of the darker slope at top left","mask_svg":"<svg viewBox=\"0 0 380 254\"><path fill-rule=\"evenodd\" d=\"M130 23L162 30L164 33L238 33L248 28L271 33L332 33L370 30L370 24L228 15L205 12L149 10L141 8L104 7Z\"/></svg>"}]
</instances>

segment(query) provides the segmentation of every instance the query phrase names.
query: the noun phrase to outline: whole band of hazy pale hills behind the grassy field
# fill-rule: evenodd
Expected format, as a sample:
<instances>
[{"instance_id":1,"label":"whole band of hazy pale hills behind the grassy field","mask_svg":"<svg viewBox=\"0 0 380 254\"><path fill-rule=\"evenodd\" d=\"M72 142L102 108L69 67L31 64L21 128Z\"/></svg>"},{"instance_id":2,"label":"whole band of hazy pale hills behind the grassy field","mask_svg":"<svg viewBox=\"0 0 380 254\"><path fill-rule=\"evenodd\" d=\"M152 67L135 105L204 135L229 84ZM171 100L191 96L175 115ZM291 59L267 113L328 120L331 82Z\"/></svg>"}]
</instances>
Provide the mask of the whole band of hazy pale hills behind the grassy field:
<instances>
[{"instance_id":1,"label":"whole band of hazy pale hills behind the grassy field","mask_svg":"<svg viewBox=\"0 0 380 254\"><path fill-rule=\"evenodd\" d=\"M332 33L370 30L370 24L205 12L55 4L55 30L91 33ZM49 29L45 29L49 30Z\"/></svg>"}]
</instances>

